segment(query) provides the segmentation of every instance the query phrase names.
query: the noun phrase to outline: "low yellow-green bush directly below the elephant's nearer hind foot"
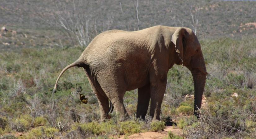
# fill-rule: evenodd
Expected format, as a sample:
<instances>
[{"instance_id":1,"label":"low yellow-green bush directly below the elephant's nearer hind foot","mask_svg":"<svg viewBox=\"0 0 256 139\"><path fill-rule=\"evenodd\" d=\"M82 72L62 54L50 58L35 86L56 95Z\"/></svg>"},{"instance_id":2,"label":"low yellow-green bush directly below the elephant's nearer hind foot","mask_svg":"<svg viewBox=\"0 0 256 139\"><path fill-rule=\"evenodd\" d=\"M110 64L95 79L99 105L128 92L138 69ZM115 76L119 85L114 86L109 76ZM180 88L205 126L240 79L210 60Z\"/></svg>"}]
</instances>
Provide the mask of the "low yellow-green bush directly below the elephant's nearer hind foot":
<instances>
[{"instance_id":1,"label":"low yellow-green bush directly below the elephant's nearer hind foot","mask_svg":"<svg viewBox=\"0 0 256 139\"><path fill-rule=\"evenodd\" d=\"M120 134L135 134L141 132L141 126L136 121L125 121L120 123Z\"/></svg>"}]
</instances>

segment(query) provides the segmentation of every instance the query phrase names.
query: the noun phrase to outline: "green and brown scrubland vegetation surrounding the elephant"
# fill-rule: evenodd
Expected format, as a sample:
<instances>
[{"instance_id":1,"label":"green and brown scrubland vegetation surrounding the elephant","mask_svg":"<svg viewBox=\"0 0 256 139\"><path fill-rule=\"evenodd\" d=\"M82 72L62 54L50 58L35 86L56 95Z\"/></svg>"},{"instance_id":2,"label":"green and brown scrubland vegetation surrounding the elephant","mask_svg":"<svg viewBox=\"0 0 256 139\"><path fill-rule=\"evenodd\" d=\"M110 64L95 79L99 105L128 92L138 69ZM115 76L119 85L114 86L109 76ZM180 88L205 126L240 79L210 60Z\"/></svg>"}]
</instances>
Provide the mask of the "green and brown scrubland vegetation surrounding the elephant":
<instances>
[{"instance_id":1,"label":"green and brown scrubland vegetation surrounding the elephant","mask_svg":"<svg viewBox=\"0 0 256 139\"><path fill-rule=\"evenodd\" d=\"M191 27L190 11L172 11L177 5L185 5L184 8L201 7L204 11L200 11L198 27L201 30L197 31L200 34L199 40L209 75L200 118L193 116L194 99L191 95L194 93L194 85L191 73L186 67L174 65L168 72L168 83L161 107L161 122L151 122L148 116L145 121L135 119L137 90L128 91L124 96L125 107L133 120L119 122L119 115L114 111L111 114L112 119L100 122L97 98L81 68L66 71L61 77L57 92L52 94L60 71L74 62L86 46L80 46L75 39L75 45L72 45L71 40L68 40L70 38L61 34L59 29L46 27L47 24L36 20L33 14L26 15L29 7L26 5L27 1L23 3L25 7L20 13L24 14L24 18L29 19L29 22L24 19L16 20L19 14L14 14L15 9L5 5L8 2L12 1L4 1L0 10L1 14L6 15L4 18L14 17L0 20L0 24L9 29L7 32L0 32L0 138L128 137L134 133L162 131L165 122L168 123L170 119L177 124L173 128L183 129L183 134L177 136L169 132L166 137L168 139L256 138L256 27L244 26L246 23L256 22L255 15L251 14L255 13L252 8L255 7L255 2L241 4L242 2L166 1L169 4L166 6L168 4L162 1L156 2L156 9L159 10L154 12L151 5L153 1L139 1L140 29L156 24ZM101 10L114 7L113 11L108 9L106 13L118 13L115 13L110 25L103 25L95 20L97 32L93 32L90 39L107 29L136 30L137 20L133 3L120 1L120 4L119 1L113 1L114 4L110 6L111 2L97 2L89 2L91 10L97 9L97 6ZM38 7L45 7L47 2L41 4ZM123 6L122 12L120 5ZM53 12L51 7L54 6L49 4L50 10L42 8L41 11L47 15ZM150 7L152 11L145 7ZM227 9L226 12L218 11L223 7ZM129 11L131 8L133 10ZM237 12L240 9L242 11ZM96 10L96 13L100 13L100 10ZM196 12L192 11L192 14L195 15ZM96 15L92 15L88 15L88 18L94 19ZM165 18L161 19L160 15L165 15ZM182 20L180 16L187 20ZM172 17L177 20L167 20ZM102 20L109 23L107 19ZM29 23L31 28L27 26ZM45 30L49 28L51 30ZM77 89L80 87L81 93L88 98L88 104L79 104ZM15 137L16 133L20 132L22 136Z\"/></svg>"}]
</instances>

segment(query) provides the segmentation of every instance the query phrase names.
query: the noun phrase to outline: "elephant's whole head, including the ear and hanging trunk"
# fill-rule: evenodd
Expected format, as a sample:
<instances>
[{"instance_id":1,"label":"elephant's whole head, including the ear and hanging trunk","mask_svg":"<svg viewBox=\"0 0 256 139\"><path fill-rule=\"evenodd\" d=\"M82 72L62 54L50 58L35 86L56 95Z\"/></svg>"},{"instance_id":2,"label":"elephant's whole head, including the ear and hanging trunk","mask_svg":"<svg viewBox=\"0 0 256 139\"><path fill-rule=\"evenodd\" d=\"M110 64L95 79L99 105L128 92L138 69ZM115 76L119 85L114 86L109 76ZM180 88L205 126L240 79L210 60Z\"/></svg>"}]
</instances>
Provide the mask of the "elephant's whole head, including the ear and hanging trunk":
<instances>
[{"instance_id":1,"label":"elephant's whole head, including the ear and hanging trunk","mask_svg":"<svg viewBox=\"0 0 256 139\"><path fill-rule=\"evenodd\" d=\"M189 28L179 27L172 36L175 51L178 58L177 65L186 66L193 76L195 88L194 114L198 116L196 110L201 107L201 101L206 80L206 67L200 43Z\"/></svg>"}]
</instances>

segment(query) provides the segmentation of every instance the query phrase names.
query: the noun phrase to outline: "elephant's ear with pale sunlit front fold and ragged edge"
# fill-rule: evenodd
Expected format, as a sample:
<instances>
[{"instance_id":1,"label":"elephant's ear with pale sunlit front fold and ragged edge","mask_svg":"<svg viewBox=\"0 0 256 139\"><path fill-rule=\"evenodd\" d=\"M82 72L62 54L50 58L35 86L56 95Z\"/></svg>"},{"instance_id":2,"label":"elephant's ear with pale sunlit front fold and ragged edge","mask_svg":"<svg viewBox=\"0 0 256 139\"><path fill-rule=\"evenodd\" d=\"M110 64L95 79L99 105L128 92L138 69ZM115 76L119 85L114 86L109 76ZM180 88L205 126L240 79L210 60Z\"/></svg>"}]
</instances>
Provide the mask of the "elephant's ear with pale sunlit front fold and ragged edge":
<instances>
[{"instance_id":1,"label":"elephant's ear with pale sunlit front fold and ragged edge","mask_svg":"<svg viewBox=\"0 0 256 139\"><path fill-rule=\"evenodd\" d=\"M183 52L185 48L185 41L186 41L186 32L185 28L179 27L177 30L173 33L172 36L172 42L175 44L175 51L179 53L179 58L183 62Z\"/></svg>"}]
</instances>

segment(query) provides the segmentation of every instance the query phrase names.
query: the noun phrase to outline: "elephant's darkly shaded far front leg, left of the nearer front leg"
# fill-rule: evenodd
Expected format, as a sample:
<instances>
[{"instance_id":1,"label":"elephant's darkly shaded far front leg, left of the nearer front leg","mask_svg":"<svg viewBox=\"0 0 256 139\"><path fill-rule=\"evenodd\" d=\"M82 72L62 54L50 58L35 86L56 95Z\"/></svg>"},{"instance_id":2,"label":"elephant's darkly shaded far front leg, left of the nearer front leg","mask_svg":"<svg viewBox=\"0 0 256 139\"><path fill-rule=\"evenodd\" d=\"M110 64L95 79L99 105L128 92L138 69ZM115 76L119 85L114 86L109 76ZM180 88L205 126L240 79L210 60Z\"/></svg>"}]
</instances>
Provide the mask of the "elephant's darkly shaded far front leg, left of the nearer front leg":
<instances>
[{"instance_id":1,"label":"elephant's darkly shaded far front leg, left of the nearer front leg","mask_svg":"<svg viewBox=\"0 0 256 139\"><path fill-rule=\"evenodd\" d=\"M145 119L150 100L150 84L138 88L138 104L136 118Z\"/></svg>"}]
</instances>

